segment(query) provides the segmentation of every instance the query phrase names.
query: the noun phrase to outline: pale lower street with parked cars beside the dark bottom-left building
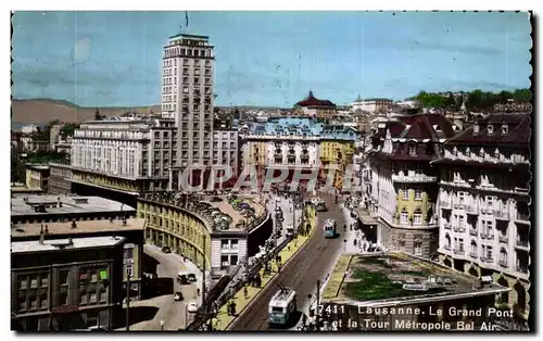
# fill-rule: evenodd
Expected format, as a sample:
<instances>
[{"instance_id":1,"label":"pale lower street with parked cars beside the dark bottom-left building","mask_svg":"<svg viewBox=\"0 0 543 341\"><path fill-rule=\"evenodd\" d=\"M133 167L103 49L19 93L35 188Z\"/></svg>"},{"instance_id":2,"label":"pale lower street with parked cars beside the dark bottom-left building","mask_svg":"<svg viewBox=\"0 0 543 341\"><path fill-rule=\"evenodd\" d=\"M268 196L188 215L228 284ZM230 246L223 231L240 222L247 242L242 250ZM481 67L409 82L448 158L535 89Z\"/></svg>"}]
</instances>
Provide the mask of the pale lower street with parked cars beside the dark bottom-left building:
<instances>
[{"instance_id":1,"label":"pale lower street with parked cars beside the dark bottom-left building","mask_svg":"<svg viewBox=\"0 0 543 341\"><path fill-rule=\"evenodd\" d=\"M143 252L159 262L156 275L159 278L168 278L173 281L173 292L163 294L149 300L130 302L130 307L138 306L155 306L159 308L154 317L150 320L140 321L130 326L130 330L178 330L185 328L187 319L190 323L192 315L187 312L187 304L190 301L198 301L197 288L202 286L202 271L187 261L182 262L182 257L175 253L163 253L161 248L146 244ZM177 274L179 271L192 273L197 276L197 282L186 286L177 283ZM181 302L174 300L174 292L180 291L185 298ZM164 325L161 327L161 321ZM124 329L124 328L123 328Z\"/></svg>"}]
</instances>

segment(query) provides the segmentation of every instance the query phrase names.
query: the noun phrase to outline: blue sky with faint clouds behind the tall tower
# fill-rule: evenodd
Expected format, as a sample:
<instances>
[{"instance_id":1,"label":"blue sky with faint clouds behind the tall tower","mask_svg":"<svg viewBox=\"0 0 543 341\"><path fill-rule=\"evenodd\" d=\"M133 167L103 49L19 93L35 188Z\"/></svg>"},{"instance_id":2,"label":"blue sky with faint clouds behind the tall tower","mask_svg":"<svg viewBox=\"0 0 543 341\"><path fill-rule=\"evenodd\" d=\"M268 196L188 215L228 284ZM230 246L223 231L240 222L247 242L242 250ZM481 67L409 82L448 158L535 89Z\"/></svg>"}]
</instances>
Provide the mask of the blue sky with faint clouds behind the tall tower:
<instances>
[{"instance_id":1,"label":"blue sky with faint clouds behind the tall tower","mask_svg":"<svg viewBox=\"0 0 543 341\"><path fill-rule=\"evenodd\" d=\"M160 104L179 31L215 47L216 105L348 104L420 90L529 88L527 13L16 12L12 96L81 106Z\"/></svg>"}]
</instances>

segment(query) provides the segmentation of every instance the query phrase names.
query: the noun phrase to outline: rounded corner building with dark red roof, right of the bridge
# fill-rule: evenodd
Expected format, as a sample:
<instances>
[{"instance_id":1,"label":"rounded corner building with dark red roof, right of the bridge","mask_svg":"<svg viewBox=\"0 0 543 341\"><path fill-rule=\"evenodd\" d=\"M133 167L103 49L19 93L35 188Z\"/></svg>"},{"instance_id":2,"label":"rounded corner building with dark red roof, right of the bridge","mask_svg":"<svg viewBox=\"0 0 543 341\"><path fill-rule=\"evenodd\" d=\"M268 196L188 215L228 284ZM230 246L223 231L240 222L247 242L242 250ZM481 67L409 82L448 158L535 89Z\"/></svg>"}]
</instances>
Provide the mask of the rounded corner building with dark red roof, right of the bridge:
<instances>
[{"instance_id":1,"label":"rounded corner building with dark red roof, right of the bridge","mask_svg":"<svg viewBox=\"0 0 543 341\"><path fill-rule=\"evenodd\" d=\"M388 121L374 136L366 203L379 217L378 243L425 257L438 249L438 173L430 162L453 136L451 122L431 114Z\"/></svg>"}]
</instances>

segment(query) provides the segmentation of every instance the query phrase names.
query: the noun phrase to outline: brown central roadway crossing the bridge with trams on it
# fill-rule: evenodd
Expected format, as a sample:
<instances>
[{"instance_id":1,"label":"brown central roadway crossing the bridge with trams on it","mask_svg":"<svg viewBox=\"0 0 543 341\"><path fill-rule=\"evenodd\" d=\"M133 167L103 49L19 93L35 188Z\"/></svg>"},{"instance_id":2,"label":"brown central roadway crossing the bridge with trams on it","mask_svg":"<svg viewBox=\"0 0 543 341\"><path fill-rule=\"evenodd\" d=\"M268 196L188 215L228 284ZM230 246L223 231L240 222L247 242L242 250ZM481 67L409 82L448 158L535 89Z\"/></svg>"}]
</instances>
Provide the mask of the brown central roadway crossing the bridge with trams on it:
<instances>
[{"instance_id":1,"label":"brown central roadway crossing the bridge with trams on it","mask_svg":"<svg viewBox=\"0 0 543 341\"><path fill-rule=\"evenodd\" d=\"M313 296L316 293L317 279L324 281L331 271L338 255L343 251L343 224L344 214L339 205L333 202L332 195L320 195L326 201L328 212L318 214L317 228L304 248L288 263L280 274L277 275L276 282L281 282L286 287L293 288L298 294L298 306L303 312L310 304L307 294ZM338 223L340 236L336 239L325 239L323 237L321 222L326 218L333 218ZM272 283L242 312L235 320L232 330L266 330L268 329L268 302L277 291L277 287Z\"/></svg>"}]
</instances>

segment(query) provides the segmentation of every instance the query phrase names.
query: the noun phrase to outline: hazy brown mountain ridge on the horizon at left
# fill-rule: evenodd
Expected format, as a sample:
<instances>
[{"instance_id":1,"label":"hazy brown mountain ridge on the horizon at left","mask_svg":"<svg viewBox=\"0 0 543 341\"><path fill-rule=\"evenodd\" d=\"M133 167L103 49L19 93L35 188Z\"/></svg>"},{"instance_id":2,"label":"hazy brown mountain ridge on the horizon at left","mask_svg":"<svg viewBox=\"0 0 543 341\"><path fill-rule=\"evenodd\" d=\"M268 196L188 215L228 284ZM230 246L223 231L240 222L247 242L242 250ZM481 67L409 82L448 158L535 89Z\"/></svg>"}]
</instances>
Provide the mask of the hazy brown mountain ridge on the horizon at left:
<instances>
[{"instance_id":1,"label":"hazy brown mountain ridge on the horizon at left","mask_svg":"<svg viewBox=\"0 0 543 341\"><path fill-rule=\"evenodd\" d=\"M217 105L222 110L230 106ZM280 110L273 106L239 105L239 110ZM45 125L53 119L61 122L85 122L94 118L97 108L79 106L70 101L54 99L13 99L11 102L11 121L16 124ZM149 106L102 106L100 115L117 116L126 112L149 114L160 113L161 105Z\"/></svg>"}]
</instances>

